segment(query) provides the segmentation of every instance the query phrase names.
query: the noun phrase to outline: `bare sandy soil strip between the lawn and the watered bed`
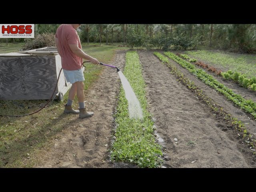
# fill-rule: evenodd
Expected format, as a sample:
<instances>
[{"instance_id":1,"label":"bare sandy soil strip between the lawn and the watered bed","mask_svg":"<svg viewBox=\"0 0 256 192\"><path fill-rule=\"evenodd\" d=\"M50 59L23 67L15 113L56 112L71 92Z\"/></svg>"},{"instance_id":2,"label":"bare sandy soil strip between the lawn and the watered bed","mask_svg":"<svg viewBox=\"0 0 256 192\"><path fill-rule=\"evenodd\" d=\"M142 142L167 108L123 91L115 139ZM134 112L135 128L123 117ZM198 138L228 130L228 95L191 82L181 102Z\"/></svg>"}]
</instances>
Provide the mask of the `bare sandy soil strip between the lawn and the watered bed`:
<instances>
[{"instance_id":1,"label":"bare sandy soil strip between the lawn and the watered bed","mask_svg":"<svg viewBox=\"0 0 256 192\"><path fill-rule=\"evenodd\" d=\"M112 65L124 68L125 51L119 51ZM47 150L39 167L49 168L112 168L114 164L108 157L114 130L113 113L115 111L120 88L120 79L116 69L104 68L97 82L85 93L90 118L78 118L70 114L70 123L57 136Z\"/></svg>"}]
</instances>

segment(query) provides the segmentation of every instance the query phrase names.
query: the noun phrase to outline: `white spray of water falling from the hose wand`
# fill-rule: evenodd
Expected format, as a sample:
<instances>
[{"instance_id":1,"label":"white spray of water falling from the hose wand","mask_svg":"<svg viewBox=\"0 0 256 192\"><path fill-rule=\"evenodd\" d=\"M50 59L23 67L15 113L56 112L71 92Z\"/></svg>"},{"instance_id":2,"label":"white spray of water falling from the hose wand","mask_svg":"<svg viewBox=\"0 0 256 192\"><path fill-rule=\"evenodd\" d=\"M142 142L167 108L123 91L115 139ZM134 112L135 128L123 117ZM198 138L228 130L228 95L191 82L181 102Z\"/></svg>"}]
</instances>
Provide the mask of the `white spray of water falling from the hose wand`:
<instances>
[{"instance_id":1,"label":"white spray of water falling from the hose wand","mask_svg":"<svg viewBox=\"0 0 256 192\"><path fill-rule=\"evenodd\" d=\"M128 111L130 118L142 119L143 113L138 98L134 94L132 87L130 86L130 83L128 82L124 74L121 71L119 71L118 74L124 88L125 97L128 100Z\"/></svg>"}]
</instances>

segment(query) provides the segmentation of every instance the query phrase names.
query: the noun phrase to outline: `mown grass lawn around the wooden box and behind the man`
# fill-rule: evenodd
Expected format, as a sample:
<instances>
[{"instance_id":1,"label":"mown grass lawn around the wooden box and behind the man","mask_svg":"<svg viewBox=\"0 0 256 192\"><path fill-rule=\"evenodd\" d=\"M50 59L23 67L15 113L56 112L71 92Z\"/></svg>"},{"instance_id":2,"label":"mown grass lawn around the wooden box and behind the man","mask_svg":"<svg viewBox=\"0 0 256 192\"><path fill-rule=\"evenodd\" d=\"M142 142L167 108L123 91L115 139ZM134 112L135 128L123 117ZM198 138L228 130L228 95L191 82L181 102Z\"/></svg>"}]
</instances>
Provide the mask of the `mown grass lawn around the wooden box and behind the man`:
<instances>
[{"instance_id":1,"label":"mown grass lawn around the wooden box and behind the man","mask_svg":"<svg viewBox=\"0 0 256 192\"><path fill-rule=\"evenodd\" d=\"M14 52L22 48L23 44L9 44L0 46L0 53ZM118 46L82 45L84 52L97 58L100 62L111 64L114 50ZM127 49L127 48L126 48ZM86 64L84 72L84 90L97 80L105 66ZM68 92L64 101L54 100L40 112L24 117L0 116L0 168L32 168L36 167L44 150L50 149L50 144L57 139L56 134L70 125L76 125L74 114L64 114L64 105L68 99ZM34 112L46 100L0 100L0 115L20 115ZM78 107L75 98L74 108Z\"/></svg>"}]
</instances>

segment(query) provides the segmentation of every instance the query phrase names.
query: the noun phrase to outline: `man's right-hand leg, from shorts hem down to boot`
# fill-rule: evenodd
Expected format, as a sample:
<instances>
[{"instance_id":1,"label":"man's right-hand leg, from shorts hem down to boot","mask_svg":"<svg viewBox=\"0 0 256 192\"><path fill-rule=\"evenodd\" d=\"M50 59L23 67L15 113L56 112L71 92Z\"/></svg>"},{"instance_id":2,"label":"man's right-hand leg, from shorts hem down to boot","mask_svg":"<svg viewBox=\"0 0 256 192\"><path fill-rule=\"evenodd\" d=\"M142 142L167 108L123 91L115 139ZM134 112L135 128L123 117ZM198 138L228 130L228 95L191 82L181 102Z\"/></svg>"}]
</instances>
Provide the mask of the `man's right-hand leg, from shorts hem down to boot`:
<instances>
[{"instance_id":1,"label":"man's right-hand leg, from shorts hem down to boot","mask_svg":"<svg viewBox=\"0 0 256 192\"><path fill-rule=\"evenodd\" d=\"M87 112L86 108L84 106L84 82L78 81L76 82L76 88L77 88L77 98L79 102L79 118L85 118L93 116L93 112Z\"/></svg>"}]
</instances>

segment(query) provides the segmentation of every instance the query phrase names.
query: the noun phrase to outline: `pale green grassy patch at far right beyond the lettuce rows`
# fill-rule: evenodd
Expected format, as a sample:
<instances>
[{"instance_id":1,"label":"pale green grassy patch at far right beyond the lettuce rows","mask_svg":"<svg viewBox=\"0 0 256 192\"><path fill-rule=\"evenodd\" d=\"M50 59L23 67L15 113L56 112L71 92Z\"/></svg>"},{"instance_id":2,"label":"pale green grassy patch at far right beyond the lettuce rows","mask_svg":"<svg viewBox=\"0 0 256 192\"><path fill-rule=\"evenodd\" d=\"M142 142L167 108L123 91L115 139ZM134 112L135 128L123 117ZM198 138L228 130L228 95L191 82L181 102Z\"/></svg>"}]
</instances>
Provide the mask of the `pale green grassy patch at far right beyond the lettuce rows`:
<instances>
[{"instance_id":1,"label":"pale green grassy patch at far right beyond the lettuce rows","mask_svg":"<svg viewBox=\"0 0 256 192\"><path fill-rule=\"evenodd\" d=\"M217 68L245 74L248 78L256 77L256 56L248 54L227 54L208 50L186 51L188 55L209 62ZM223 70L223 71L224 71Z\"/></svg>"}]
</instances>

